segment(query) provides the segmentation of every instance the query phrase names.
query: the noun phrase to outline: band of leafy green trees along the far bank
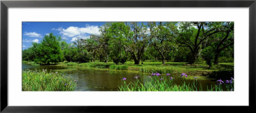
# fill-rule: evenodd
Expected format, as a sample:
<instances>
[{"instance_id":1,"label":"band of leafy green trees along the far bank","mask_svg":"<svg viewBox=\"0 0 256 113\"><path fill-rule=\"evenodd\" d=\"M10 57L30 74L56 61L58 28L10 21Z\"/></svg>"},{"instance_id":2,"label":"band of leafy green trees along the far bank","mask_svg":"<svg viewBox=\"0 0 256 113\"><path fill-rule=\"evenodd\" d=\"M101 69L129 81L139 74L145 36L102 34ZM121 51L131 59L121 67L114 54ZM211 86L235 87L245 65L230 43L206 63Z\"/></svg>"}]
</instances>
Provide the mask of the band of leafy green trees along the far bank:
<instances>
[{"instance_id":1,"label":"band of leafy green trees along the far bank","mask_svg":"<svg viewBox=\"0 0 256 113\"><path fill-rule=\"evenodd\" d=\"M40 64L145 60L234 62L234 22L109 22L100 35L68 44L52 33L22 51L22 60Z\"/></svg>"}]
</instances>

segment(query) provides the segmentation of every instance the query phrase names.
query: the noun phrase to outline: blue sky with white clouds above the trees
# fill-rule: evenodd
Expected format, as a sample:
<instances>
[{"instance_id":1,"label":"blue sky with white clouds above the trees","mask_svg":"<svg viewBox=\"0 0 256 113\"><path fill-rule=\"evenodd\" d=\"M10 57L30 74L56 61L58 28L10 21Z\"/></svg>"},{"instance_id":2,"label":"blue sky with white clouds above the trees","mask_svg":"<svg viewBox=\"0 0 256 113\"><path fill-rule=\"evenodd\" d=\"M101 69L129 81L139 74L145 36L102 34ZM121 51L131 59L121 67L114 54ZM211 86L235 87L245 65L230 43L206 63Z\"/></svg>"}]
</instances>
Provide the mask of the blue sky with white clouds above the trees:
<instances>
[{"instance_id":1,"label":"blue sky with white clouds above the trees","mask_svg":"<svg viewBox=\"0 0 256 113\"><path fill-rule=\"evenodd\" d=\"M40 43L45 35L53 33L63 41L71 43L77 37L87 38L99 34L99 27L105 22L22 22L22 50L32 43Z\"/></svg>"}]
</instances>

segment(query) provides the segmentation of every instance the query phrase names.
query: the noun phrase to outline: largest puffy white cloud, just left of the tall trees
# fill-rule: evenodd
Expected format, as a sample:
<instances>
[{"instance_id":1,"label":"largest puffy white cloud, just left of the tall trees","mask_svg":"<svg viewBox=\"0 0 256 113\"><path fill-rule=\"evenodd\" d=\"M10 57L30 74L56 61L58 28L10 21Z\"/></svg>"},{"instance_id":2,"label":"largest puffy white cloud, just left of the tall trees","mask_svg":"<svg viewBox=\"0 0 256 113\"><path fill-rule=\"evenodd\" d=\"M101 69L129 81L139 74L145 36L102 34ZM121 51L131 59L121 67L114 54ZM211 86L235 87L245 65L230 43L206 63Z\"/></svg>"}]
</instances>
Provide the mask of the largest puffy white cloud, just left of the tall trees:
<instances>
[{"instance_id":1,"label":"largest puffy white cloud, just left of the tall trees","mask_svg":"<svg viewBox=\"0 0 256 113\"><path fill-rule=\"evenodd\" d=\"M77 36L82 36L86 34L94 34L94 35L99 35L99 27L98 26L90 26L86 25L86 27L74 27L70 26L67 29L62 29L60 34L63 36L67 37L77 37Z\"/></svg>"}]
</instances>

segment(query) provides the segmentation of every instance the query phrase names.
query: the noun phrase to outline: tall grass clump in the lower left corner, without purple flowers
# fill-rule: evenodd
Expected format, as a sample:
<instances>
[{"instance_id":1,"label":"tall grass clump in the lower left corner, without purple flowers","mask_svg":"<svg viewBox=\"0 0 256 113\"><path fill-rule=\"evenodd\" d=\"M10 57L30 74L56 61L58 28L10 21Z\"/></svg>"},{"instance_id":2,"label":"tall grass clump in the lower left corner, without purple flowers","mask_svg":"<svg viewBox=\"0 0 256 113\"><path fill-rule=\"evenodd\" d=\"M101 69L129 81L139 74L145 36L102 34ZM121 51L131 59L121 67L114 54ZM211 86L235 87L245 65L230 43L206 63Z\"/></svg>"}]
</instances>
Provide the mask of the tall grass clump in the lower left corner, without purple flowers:
<instances>
[{"instance_id":1,"label":"tall grass clump in the lower left corner, without purple flowers","mask_svg":"<svg viewBox=\"0 0 256 113\"><path fill-rule=\"evenodd\" d=\"M76 81L58 72L22 71L22 91L74 91Z\"/></svg>"}]
</instances>

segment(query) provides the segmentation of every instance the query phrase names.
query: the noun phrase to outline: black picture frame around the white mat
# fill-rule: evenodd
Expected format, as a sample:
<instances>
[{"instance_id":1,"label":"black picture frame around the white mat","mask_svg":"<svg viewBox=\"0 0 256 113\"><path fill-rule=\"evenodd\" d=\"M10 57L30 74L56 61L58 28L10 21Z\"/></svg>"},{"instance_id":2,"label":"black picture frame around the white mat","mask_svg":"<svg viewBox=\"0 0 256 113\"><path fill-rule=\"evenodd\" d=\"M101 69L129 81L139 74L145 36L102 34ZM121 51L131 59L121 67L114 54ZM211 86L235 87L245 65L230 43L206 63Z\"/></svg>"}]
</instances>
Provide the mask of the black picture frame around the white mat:
<instances>
[{"instance_id":1,"label":"black picture frame around the white mat","mask_svg":"<svg viewBox=\"0 0 256 113\"><path fill-rule=\"evenodd\" d=\"M8 106L8 8L81 8L81 7L173 7L173 8L249 8L249 106L228 107L228 111L237 109L253 109L255 107L255 76L256 76L256 1L1 1L1 112L122 112L140 109L152 110L155 107L107 107L107 106L47 106L47 107L13 107ZM173 106L172 106L173 107ZM178 107L178 106L175 106ZM216 107L216 106L215 106ZM211 107L207 107L212 109ZM179 107L178 109L184 109ZM192 108L191 109L198 109ZM190 109L190 110L191 110ZM170 106L157 108L156 110L170 110ZM196 110L198 112L198 110ZM200 111L199 111L200 112ZM205 112L202 110L202 112Z\"/></svg>"}]
</instances>

